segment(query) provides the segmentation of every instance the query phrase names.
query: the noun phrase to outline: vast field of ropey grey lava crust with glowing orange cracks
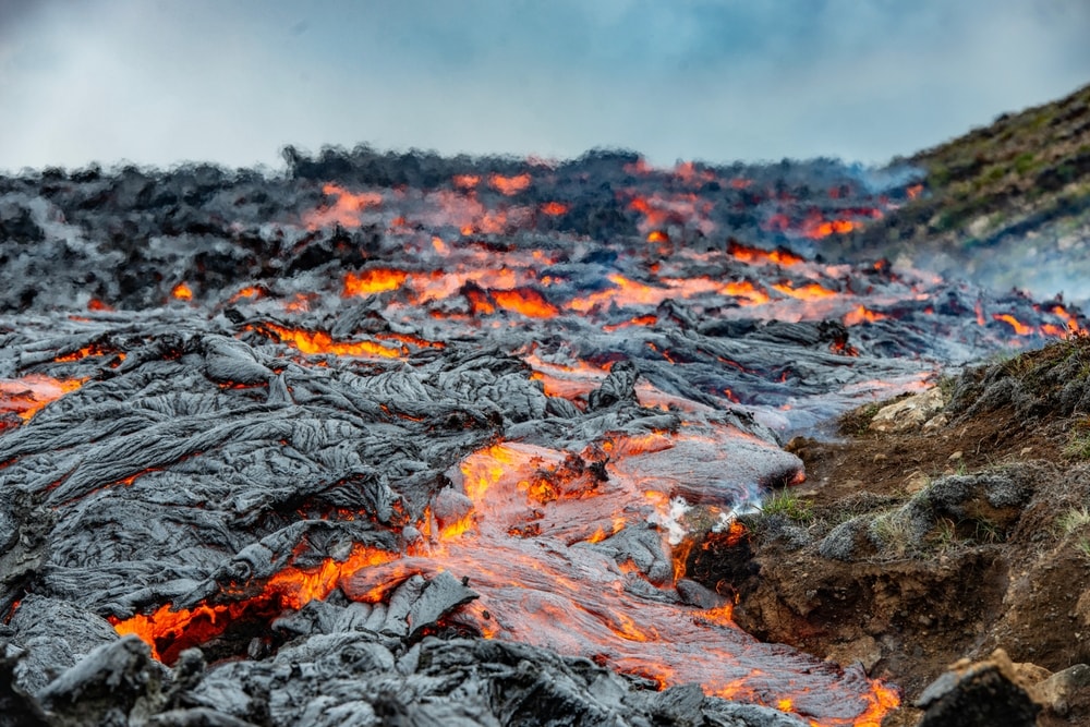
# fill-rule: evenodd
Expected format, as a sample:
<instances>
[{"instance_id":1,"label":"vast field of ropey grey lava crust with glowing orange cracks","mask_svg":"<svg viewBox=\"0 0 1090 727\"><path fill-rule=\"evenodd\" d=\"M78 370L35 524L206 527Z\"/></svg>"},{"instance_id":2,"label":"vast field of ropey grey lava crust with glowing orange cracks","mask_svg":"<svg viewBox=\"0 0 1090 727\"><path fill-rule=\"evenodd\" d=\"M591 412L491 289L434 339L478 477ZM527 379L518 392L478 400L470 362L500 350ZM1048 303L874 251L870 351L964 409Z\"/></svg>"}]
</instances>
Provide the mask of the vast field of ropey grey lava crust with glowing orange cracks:
<instances>
[{"instance_id":1,"label":"vast field of ropey grey lava crust with glowing orange cracks","mask_svg":"<svg viewBox=\"0 0 1090 727\"><path fill-rule=\"evenodd\" d=\"M742 632L690 555L742 547L735 513L804 480L784 436L1079 314L822 259L923 193L910 175L287 158L0 181L12 714L877 725L897 705Z\"/></svg>"}]
</instances>

